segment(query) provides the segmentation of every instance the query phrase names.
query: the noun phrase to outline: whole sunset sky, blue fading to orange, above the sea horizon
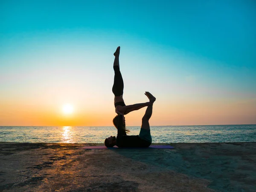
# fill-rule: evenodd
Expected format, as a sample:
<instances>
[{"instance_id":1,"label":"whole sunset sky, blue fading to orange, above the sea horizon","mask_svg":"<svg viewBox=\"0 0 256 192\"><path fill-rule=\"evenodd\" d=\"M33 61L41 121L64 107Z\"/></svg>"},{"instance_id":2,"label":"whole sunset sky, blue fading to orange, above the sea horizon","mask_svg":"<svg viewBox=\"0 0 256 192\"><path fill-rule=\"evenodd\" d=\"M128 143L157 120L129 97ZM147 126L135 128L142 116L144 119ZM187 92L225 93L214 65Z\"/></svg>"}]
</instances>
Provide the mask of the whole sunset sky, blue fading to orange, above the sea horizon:
<instances>
[{"instance_id":1,"label":"whole sunset sky, blue fading to orange, above the sea horizon","mask_svg":"<svg viewBox=\"0 0 256 192\"><path fill-rule=\"evenodd\" d=\"M256 124L255 23L254 0L1 0L0 125L112 126L118 46L150 125Z\"/></svg>"}]
</instances>

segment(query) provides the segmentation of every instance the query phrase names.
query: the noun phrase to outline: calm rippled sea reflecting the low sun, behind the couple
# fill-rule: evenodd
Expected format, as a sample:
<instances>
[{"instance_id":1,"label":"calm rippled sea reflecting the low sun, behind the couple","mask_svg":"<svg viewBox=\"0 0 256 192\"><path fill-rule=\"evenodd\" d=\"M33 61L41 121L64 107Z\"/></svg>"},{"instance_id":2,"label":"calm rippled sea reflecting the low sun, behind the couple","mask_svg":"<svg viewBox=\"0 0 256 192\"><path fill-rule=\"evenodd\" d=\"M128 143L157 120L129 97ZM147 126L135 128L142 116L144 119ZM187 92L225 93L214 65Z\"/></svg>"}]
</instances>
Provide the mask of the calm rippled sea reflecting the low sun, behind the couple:
<instances>
[{"instance_id":1,"label":"calm rippled sea reflecting the low sun, behind the couple","mask_svg":"<svg viewBox=\"0 0 256 192\"><path fill-rule=\"evenodd\" d=\"M139 126L127 127L129 135ZM0 126L0 142L104 143L116 136L111 127L12 127ZM256 142L256 125L151 126L153 143Z\"/></svg>"}]
</instances>

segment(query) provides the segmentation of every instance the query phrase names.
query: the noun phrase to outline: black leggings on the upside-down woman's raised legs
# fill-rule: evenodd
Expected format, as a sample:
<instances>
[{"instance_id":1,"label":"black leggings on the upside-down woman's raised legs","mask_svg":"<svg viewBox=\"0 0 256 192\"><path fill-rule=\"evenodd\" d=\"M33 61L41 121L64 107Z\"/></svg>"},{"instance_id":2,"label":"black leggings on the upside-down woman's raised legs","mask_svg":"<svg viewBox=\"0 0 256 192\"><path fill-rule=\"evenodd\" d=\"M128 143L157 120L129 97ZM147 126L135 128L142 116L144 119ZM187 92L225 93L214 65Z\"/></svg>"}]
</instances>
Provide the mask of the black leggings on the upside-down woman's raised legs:
<instances>
[{"instance_id":1,"label":"black leggings on the upside-down woman's raised legs","mask_svg":"<svg viewBox=\"0 0 256 192\"><path fill-rule=\"evenodd\" d=\"M119 70L119 67L115 65L113 68L115 71L115 76L112 92L115 96L121 96L124 93L124 81L122 80L122 75Z\"/></svg>"}]
</instances>

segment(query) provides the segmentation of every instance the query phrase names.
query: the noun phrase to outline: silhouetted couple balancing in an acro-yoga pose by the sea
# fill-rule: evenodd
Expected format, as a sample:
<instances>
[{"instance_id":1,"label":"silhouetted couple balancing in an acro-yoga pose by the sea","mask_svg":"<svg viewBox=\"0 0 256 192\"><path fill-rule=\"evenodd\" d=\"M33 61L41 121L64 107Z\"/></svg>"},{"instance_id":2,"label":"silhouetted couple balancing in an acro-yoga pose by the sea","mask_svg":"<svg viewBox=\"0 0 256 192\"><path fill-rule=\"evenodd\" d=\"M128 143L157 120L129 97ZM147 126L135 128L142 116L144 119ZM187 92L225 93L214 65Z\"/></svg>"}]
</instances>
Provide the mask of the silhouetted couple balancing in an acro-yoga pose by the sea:
<instances>
[{"instance_id":1,"label":"silhouetted couple balancing in an acro-yoga pose by the sea","mask_svg":"<svg viewBox=\"0 0 256 192\"><path fill-rule=\"evenodd\" d=\"M152 143L152 137L150 134L149 119L152 115L153 103L156 98L149 92L145 92L145 95L148 97L149 102L138 103L134 105L125 105L124 99L122 98L124 82L122 75L119 69L119 53L120 47L117 47L116 52L114 53L115 60L113 64L115 76L114 84L112 87L112 92L115 95L114 105L116 108L117 115L113 119L113 124L117 129L117 136L111 136L105 139L106 147L113 147L114 145L118 147L149 147ZM145 115L142 118L142 125L140 128L139 135L126 135L126 132L129 132L125 128L125 117L124 115L130 113L131 111L139 110L140 108L146 107Z\"/></svg>"}]
</instances>

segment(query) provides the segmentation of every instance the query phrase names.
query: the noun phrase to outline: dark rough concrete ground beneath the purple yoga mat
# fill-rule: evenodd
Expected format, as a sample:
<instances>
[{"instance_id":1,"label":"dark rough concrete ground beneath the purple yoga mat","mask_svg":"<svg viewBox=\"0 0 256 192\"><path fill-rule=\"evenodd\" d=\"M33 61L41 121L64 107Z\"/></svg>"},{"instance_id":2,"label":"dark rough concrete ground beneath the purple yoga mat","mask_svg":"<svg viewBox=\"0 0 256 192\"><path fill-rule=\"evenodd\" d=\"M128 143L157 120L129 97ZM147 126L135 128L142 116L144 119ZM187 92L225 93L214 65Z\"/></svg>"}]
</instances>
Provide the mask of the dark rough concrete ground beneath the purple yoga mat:
<instances>
[{"instance_id":1,"label":"dark rough concrete ground beneath the purple yoga mat","mask_svg":"<svg viewBox=\"0 0 256 192\"><path fill-rule=\"evenodd\" d=\"M97 144L0 143L0 192L256 191L256 143L79 149L84 145Z\"/></svg>"}]
</instances>

